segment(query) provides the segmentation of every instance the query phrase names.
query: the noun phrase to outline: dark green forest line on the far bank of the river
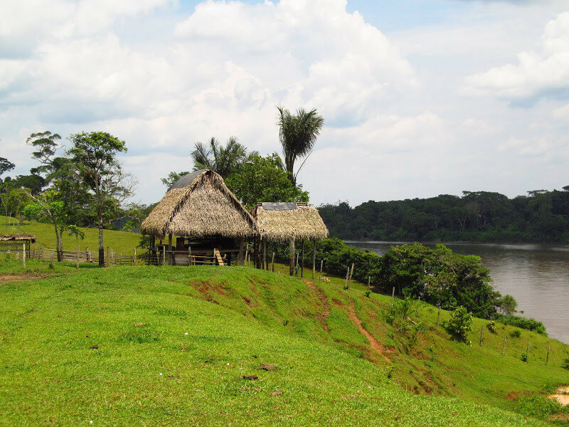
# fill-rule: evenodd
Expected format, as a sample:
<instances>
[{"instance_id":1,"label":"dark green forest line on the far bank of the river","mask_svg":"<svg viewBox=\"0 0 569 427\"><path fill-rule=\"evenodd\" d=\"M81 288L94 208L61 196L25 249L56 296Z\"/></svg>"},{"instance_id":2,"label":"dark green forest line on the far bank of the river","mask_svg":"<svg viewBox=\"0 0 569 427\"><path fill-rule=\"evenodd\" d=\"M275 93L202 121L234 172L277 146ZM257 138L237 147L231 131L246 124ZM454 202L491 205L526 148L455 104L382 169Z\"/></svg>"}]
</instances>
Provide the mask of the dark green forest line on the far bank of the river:
<instances>
[{"instance_id":1,"label":"dark green forest line on the far bank of the river","mask_svg":"<svg viewBox=\"0 0 569 427\"><path fill-rule=\"evenodd\" d=\"M509 199L463 191L430 199L326 204L319 212L330 235L379 241L569 242L569 186Z\"/></svg>"}]
</instances>

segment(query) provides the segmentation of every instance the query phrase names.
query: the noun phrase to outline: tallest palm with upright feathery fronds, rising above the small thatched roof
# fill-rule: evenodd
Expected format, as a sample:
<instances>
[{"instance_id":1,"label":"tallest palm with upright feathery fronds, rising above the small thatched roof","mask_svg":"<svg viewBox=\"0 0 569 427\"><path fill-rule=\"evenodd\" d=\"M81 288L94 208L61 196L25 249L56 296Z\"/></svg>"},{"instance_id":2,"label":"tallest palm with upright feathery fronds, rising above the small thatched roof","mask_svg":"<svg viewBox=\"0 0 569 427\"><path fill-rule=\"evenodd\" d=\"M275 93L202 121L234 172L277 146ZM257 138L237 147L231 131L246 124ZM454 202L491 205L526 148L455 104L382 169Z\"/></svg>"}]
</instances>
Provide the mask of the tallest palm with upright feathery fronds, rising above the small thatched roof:
<instances>
[{"instance_id":1,"label":"tallest palm with upright feathery fronds, rising above the small thatched roof","mask_svg":"<svg viewBox=\"0 0 569 427\"><path fill-rule=\"evenodd\" d=\"M296 185L297 175L312 154L312 147L324 126L324 117L318 114L316 108L309 112L299 108L296 115L290 114L282 105L277 105L277 110L279 110L277 126L285 168L290 181ZM294 173L294 162L299 157L304 157L304 162Z\"/></svg>"}]
</instances>

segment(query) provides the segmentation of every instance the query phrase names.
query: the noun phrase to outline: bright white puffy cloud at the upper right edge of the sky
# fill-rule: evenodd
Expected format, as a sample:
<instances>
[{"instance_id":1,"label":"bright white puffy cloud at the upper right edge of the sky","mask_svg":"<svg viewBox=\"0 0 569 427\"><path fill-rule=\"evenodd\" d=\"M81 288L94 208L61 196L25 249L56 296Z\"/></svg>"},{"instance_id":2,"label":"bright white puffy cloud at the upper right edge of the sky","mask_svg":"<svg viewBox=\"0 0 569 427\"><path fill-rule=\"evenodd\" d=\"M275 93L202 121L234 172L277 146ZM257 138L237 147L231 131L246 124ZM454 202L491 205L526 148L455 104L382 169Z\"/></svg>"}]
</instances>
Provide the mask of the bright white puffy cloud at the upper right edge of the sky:
<instances>
[{"instance_id":1,"label":"bright white puffy cloud at the upper right edge of the sky","mask_svg":"<svg viewBox=\"0 0 569 427\"><path fill-rule=\"evenodd\" d=\"M540 97L568 97L569 12L547 23L540 52L524 51L517 58L516 64L470 75L464 91L526 102Z\"/></svg>"}]
</instances>

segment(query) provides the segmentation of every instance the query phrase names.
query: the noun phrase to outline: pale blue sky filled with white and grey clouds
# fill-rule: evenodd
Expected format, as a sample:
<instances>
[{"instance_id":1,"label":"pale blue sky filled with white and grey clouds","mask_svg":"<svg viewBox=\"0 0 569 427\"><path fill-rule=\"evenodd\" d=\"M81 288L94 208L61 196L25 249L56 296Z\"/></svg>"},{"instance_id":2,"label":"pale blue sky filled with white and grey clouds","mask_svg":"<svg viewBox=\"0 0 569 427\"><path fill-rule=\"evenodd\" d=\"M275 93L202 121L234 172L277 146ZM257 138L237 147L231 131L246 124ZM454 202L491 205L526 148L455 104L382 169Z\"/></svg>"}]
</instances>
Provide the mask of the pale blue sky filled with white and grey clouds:
<instances>
[{"instance_id":1,"label":"pale blue sky filled with white and grey clouds","mask_svg":"<svg viewBox=\"0 0 569 427\"><path fill-rule=\"evenodd\" d=\"M124 140L134 201L198 141L280 153L276 105L324 129L312 203L569 184L567 0L2 0L0 157L26 139Z\"/></svg>"}]
</instances>

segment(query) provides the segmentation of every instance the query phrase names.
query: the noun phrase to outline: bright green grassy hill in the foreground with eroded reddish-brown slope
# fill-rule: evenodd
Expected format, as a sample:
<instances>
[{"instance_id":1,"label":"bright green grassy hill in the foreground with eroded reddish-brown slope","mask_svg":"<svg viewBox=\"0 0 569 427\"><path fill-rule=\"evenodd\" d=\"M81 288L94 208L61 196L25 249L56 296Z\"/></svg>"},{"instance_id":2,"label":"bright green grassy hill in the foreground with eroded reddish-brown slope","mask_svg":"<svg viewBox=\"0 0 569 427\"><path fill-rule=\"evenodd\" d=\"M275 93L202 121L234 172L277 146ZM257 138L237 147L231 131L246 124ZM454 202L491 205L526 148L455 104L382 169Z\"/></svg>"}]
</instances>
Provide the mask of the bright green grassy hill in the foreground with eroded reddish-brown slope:
<instances>
[{"instance_id":1,"label":"bright green grassy hill in the foreground with eroded reddish-brown slope","mask_svg":"<svg viewBox=\"0 0 569 427\"><path fill-rule=\"evenodd\" d=\"M516 328L491 334L475 320L469 347L425 304L392 326L390 297L339 279L37 261L1 261L0 275L0 426L540 426L565 416L552 421L560 409L533 397L569 384L565 344L522 330L502 355Z\"/></svg>"}]
</instances>

